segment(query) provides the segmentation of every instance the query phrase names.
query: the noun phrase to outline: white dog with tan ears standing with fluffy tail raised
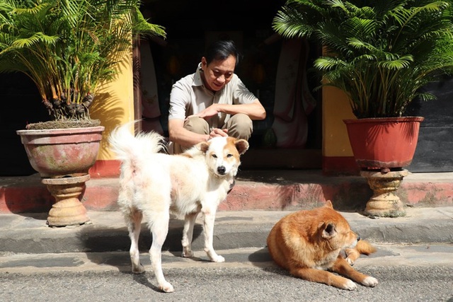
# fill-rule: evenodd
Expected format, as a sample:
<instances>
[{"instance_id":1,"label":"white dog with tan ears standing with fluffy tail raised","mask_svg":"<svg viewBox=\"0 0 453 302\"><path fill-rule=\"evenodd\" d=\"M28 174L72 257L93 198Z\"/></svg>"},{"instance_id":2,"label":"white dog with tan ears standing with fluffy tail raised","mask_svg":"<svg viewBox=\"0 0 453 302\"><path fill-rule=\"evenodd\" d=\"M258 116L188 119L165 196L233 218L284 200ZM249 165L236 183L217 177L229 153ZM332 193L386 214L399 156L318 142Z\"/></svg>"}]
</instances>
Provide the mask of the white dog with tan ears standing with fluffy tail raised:
<instances>
[{"instance_id":1,"label":"white dog with tan ears standing with fluffy tail raised","mask_svg":"<svg viewBox=\"0 0 453 302\"><path fill-rule=\"evenodd\" d=\"M183 257L192 257L191 243L197 215L204 215L205 252L213 262L224 262L212 246L217 206L231 189L241 164L239 156L248 149L244 139L216 137L197 144L180 155L168 155L163 137L139 133L130 124L113 130L110 146L122 161L118 204L125 216L131 240L132 272L142 273L138 240L142 217L152 233L149 250L159 289L173 291L162 272L161 249L168 233L170 212L184 215Z\"/></svg>"}]
</instances>

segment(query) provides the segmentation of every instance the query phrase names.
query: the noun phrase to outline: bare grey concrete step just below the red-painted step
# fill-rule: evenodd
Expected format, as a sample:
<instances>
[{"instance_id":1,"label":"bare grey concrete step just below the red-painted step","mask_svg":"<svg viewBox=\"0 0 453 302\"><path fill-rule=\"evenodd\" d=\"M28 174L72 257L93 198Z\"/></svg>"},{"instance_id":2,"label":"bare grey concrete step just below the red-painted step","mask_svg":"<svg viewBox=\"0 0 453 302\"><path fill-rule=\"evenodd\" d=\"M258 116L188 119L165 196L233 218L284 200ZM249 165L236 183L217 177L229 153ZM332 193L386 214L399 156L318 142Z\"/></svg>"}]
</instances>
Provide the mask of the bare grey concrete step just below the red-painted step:
<instances>
[{"instance_id":1,"label":"bare grey concrete step just below the red-painted step","mask_svg":"<svg viewBox=\"0 0 453 302\"><path fill-rule=\"evenodd\" d=\"M340 211L352 230L372 243L453 243L453 207L408 207L406 216L371 219ZM270 229L291 211L219 211L214 225L214 248L263 248ZM50 228L45 213L0 214L0 256L62 252L128 251L130 239L119 211L88 211L91 223ZM202 251L202 217L198 217L193 250ZM181 252L183 221L172 216L164 250ZM151 234L142 225L139 249L147 252Z\"/></svg>"}]
</instances>

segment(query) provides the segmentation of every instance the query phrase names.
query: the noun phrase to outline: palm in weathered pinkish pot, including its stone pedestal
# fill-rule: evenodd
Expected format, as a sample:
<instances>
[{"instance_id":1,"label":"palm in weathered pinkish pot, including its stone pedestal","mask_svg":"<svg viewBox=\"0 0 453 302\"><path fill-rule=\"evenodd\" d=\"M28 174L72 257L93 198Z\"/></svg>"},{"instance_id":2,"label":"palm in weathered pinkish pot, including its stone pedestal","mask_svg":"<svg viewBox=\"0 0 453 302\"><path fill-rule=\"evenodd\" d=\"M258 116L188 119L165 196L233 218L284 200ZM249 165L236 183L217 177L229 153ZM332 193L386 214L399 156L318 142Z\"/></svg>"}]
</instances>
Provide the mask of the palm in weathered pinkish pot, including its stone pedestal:
<instances>
[{"instance_id":1,"label":"palm in weathered pinkish pot, including its stone pedestal","mask_svg":"<svg viewBox=\"0 0 453 302\"><path fill-rule=\"evenodd\" d=\"M83 191L88 169L98 156L104 127L89 112L96 102L96 89L115 79L117 64L132 53L132 37L165 35L164 28L143 18L139 5L139 0L5 0L0 4L0 72L30 77L50 115L49 121L28 124L17 133L42 182L52 194L65 192L55 192L61 201L57 209L57 204L52 208L55 212L70 203L65 195L76 202L77 196L67 190L75 186L78 194ZM86 221L87 217L55 223L48 219L55 226Z\"/></svg>"}]
</instances>

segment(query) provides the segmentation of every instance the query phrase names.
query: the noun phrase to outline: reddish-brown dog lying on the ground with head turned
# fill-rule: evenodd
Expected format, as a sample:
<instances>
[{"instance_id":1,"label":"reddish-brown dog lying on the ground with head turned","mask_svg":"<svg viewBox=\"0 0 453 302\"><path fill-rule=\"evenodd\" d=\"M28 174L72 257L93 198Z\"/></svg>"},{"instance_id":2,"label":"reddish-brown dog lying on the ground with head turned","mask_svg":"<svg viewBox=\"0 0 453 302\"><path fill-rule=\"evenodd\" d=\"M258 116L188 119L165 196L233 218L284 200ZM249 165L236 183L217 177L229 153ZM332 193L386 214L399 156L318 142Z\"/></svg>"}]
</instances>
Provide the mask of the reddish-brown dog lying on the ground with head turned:
<instances>
[{"instance_id":1,"label":"reddish-brown dog lying on the ground with head turned","mask_svg":"<svg viewBox=\"0 0 453 302\"><path fill-rule=\"evenodd\" d=\"M348 221L330 201L324 207L297 211L280 219L269 233L268 249L277 265L307 281L349 290L357 288L353 281L377 285L377 279L351 267L360 254L369 255L375 248L351 231ZM346 259L340 255L342 251Z\"/></svg>"}]
</instances>

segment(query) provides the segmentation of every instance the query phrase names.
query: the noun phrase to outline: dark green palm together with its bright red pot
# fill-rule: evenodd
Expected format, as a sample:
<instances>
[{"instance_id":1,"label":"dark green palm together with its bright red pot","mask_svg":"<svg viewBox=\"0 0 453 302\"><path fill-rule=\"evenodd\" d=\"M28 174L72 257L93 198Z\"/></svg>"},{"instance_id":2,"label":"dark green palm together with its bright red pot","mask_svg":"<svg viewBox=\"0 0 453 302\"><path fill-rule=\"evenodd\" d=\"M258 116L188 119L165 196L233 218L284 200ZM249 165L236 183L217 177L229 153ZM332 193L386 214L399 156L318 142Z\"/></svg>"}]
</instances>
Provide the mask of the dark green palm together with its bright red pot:
<instances>
[{"instance_id":1,"label":"dark green palm together with its bright red pot","mask_svg":"<svg viewBox=\"0 0 453 302\"><path fill-rule=\"evenodd\" d=\"M415 152L423 117L404 116L406 108L435 99L420 88L452 72L452 16L452 1L289 0L273 28L323 45L314 69L321 86L348 96L357 120L344 122L355 160L362 170L386 172L409 165Z\"/></svg>"}]
</instances>

